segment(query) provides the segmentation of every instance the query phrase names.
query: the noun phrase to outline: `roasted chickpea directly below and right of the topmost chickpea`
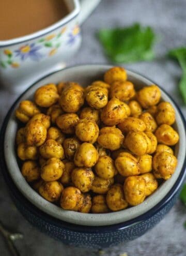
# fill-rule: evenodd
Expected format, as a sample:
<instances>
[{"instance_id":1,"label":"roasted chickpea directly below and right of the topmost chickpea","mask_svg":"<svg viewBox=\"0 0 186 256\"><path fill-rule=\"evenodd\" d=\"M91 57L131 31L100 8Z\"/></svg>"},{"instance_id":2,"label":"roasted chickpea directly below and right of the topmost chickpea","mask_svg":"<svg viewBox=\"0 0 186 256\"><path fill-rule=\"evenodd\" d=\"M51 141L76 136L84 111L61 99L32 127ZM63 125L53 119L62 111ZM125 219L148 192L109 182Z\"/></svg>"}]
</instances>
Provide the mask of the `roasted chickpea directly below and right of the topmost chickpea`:
<instances>
[{"instance_id":1,"label":"roasted chickpea directly below and right of the topmost chickpea","mask_svg":"<svg viewBox=\"0 0 186 256\"><path fill-rule=\"evenodd\" d=\"M114 81L110 90L110 98L128 101L135 95L133 83L129 81Z\"/></svg>"}]
</instances>

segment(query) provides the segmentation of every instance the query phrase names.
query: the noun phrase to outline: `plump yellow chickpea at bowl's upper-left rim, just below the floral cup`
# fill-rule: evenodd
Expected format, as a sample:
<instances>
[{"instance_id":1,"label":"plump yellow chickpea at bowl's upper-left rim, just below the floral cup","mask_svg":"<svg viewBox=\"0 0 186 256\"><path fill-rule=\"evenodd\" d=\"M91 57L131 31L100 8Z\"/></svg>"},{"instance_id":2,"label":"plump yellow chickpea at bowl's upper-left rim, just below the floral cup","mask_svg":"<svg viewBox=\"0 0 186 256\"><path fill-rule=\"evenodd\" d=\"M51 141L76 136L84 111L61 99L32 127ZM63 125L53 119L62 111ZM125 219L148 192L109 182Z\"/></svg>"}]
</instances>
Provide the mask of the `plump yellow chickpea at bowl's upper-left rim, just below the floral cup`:
<instances>
[{"instance_id":1,"label":"plump yellow chickpea at bowl's upper-left rim, just below the floral cup","mask_svg":"<svg viewBox=\"0 0 186 256\"><path fill-rule=\"evenodd\" d=\"M35 94L34 99L38 106L49 108L58 101L59 95L55 84L46 84L39 87Z\"/></svg>"}]
</instances>

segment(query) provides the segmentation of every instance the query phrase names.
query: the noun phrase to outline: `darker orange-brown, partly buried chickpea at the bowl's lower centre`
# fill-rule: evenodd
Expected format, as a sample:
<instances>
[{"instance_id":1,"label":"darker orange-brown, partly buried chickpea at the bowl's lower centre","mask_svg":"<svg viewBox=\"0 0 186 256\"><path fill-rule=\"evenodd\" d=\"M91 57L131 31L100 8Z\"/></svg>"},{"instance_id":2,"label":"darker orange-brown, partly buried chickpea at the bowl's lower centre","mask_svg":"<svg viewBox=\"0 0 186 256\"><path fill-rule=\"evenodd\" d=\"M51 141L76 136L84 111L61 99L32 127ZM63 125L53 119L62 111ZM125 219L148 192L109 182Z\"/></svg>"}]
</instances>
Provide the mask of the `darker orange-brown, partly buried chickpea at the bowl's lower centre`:
<instances>
[{"instance_id":1,"label":"darker orange-brown, partly buried chickpea at the bowl's lower centre","mask_svg":"<svg viewBox=\"0 0 186 256\"><path fill-rule=\"evenodd\" d=\"M94 193L106 194L110 187L114 183L114 178L104 179L98 176L95 176L94 181L91 186L91 190Z\"/></svg>"}]
</instances>

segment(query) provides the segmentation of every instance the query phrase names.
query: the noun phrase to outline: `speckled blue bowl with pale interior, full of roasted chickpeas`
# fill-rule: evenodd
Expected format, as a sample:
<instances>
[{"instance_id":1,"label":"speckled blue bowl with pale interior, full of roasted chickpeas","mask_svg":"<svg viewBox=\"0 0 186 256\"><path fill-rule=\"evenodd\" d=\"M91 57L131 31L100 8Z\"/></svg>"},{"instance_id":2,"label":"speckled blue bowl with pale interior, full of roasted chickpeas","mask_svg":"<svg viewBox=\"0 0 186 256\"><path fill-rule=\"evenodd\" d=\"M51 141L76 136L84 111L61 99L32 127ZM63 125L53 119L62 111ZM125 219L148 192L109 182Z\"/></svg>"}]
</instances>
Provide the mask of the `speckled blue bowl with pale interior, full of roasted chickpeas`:
<instances>
[{"instance_id":1,"label":"speckled blue bowl with pale interior, full of roasted chickpeas","mask_svg":"<svg viewBox=\"0 0 186 256\"><path fill-rule=\"evenodd\" d=\"M185 176L185 121L149 79L82 65L30 86L1 131L1 170L21 213L74 246L141 236L174 205Z\"/></svg>"}]
</instances>

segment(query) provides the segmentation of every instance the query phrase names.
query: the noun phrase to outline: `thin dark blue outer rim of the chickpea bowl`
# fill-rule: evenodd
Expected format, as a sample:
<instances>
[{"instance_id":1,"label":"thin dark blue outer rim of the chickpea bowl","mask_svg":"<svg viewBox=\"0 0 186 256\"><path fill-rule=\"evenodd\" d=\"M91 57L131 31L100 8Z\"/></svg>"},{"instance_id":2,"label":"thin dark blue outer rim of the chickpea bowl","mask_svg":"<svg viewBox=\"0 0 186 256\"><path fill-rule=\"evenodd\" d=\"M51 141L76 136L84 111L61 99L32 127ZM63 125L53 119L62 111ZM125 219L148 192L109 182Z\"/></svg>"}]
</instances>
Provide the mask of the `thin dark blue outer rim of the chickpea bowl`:
<instances>
[{"instance_id":1,"label":"thin dark blue outer rim of the chickpea bowl","mask_svg":"<svg viewBox=\"0 0 186 256\"><path fill-rule=\"evenodd\" d=\"M84 66L94 66L97 64L84 64ZM98 64L98 65L102 65L102 64ZM183 162L183 166L182 169L180 171L180 175L178 176L178 179L176 180L174 186L172 187L172 189L170 189L170 191L165 195L165 197L158 203L156 204L154 207L152 207L150 210L148 210L148 212L146 212L143 215L140 215L134 219L125 221L125 222L121 222L118 224L113 224L113 225L107 225L107 226L84 226L84 225L77 225L77 224L72 224L69 222L65 222L62 220L58 220L44 212L42 212L42 210L38 209L34 204L32 204L31 202L29 202L24 196L23 194L21 194L21 192L18 190L18 188L15 186L15 184L13 183L10 175L8 174L8 170L6 167L6 163L5 163L5 156L4 156L4 139L5 139L5 131L6 131L6 126L7 123L9 121L9 116L11 115L11 113L14 111L14 107L17 104L17 102L20 100L20 98L31 88L33 87L36 83L38 83L39 81L51 76L54 73L57 73L59 71L62 70L66 70L66 69L70 69L70 68L75 68L78 67L80 65L75 65L75 66L71 66L71 67L67 67L65 69L60 69L54 72L51 72L49 74L47 74L46 76L42 77L41 79L37 80L34 84L30 85L26 91L24 91L17 100L14 101L14 103L12 104L11 108L9 109L2 128L1 128L1 133L0 133L0 168L1 171L3 172L3 176L6 180L7 186L10 189L10 191L13 193L15 198L19 198L20 202L23 202L23 205L25 205L25 207L27 209L29 209L29 211L35 215L37 215L37 217L43 219L44 221L55 225L58 228L62 228L62 229L67 229L73 232L80 232L80 233L97 233L97 232L101 232L101 233L106 233L106 232L113 232L116 230L122 230L122 229L126 229L128 227L130 227L131 225L134 225L138 222L142 222L150 217L152 217L153 215L155 215L156 213L158 213L175 195L176 193L179 191L179 189L181 188L183 182L184 182L184 178L186 176L186 172L185 172L185 168L186 168L186 154L185 154L185 158L184 158L184 162ZM83 65L81 65L83 66ZM104 65L102 65L104 66ZM132 70L129 70L132 71ZM151 79L147 78L146 76L133 71L136 74L139 74L140 76L150 80L152 83L154 83ZM157 84L157 83L154 83ZM157 84L158 85L158 84ZM159 86L159 85L158 85ZM161 90L174 102L184 125L184 128L186 129L186 122L184 119L184 116L180 110L180 108L178 107L178 104L173 100L172 97L170 97L165 91L164 89L159 86L161 88Z\"/></svg>"}]
</instances>

